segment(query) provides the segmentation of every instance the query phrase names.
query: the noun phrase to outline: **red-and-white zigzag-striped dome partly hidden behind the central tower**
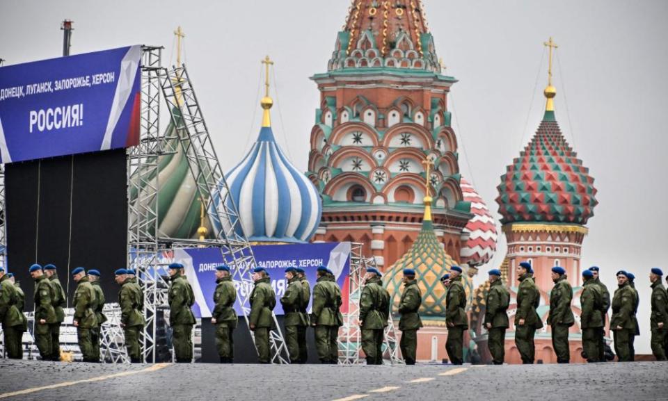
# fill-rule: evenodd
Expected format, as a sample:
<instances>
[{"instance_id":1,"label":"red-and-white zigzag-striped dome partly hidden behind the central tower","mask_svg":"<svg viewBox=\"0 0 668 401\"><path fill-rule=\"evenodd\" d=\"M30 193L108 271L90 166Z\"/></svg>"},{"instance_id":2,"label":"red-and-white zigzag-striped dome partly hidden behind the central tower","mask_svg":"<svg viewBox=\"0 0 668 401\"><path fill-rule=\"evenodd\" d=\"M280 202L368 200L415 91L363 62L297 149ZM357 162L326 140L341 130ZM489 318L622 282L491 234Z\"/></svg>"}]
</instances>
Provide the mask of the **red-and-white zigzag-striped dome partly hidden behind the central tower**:
<instances>
[{"instance_id":1,"label":"red-and-white zigzag-striped dome partly hidden behind the central tower","mask_svg":"<svg viewBox=\"0 0 668 401\"><path fill-rule=\"evenodd\" d=\"M462 177L459 186L464 202L471 202L471 213L473 213L473 217L468 220L463 230L469 237L466 244L461 247L461 263L479 267L490 261L496 251L496 222L482 197L466 179Z\"/></svg>"}]
</instances>

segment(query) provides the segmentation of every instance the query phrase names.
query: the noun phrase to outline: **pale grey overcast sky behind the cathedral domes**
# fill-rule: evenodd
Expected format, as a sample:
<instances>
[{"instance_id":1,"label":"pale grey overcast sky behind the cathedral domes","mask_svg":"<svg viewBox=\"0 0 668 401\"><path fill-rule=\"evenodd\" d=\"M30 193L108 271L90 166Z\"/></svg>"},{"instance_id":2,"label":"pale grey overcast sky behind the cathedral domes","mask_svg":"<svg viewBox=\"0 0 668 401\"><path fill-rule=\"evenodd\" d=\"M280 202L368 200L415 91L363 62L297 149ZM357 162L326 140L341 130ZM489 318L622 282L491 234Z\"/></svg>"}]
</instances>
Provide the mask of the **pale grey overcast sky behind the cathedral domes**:
<instances>
[{"instance_id":1,"label":"pale grey overcast sky behind the cathedral domes","mask_svg":"<svg viewBox=\"0 0 668 401\"><path fill-rule=\"evenodd\" d=\"M559 45L557 120L596 179L598 200L582 265L637 276L642 336L649 348L649 269L668 250L666 108L668 1L424 0L446 74L459 79L450 110L460 168L491 211L496 186L541 120L547 80L543 42ZM309 77L326 72L347 0L35 1L1 0L0 58L17 64L61 55L61 20L74 21L72 54L129 44L160 44L175 62L177 26L185 61L223 168L260 127L260 60L276 61L273 127L292 162L306 169L319 93ZM543 57L544 56L544 57ZM541 64L541 58L543 60ZM536 85L536 76L538 81ZM532 101L533 99L533 101ZM570 118L569 118L570 115ZM528 123L527 123L528 122ZM470 167L469 167L470 166ZM493 263L502 261L500 238Z\"/></svg>"}]
</instances>

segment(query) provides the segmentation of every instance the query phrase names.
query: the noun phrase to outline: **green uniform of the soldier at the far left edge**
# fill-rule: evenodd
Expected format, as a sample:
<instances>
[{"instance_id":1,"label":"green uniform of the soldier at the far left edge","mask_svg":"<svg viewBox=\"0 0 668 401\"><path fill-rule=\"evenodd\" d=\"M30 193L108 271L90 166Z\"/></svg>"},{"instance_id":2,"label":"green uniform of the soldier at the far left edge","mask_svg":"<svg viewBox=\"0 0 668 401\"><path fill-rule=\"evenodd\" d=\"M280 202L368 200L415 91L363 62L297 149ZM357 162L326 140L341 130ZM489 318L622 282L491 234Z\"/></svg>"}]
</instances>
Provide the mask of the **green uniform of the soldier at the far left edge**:
<instances>
[{"instance_id":1,"label":"green uniform of the soldier at the far left edge","mask_svg":"<svg viewBox=\"0 0 668 401\"><path fill-rule=\"evenodd\" d=\"M20 338L23 335L23 313L17 305L20 304L19 293L14 284L6 275L0 278L0 323L2 323L5 349L10 359L22 359Z\"/></svg>"}]
</instances>

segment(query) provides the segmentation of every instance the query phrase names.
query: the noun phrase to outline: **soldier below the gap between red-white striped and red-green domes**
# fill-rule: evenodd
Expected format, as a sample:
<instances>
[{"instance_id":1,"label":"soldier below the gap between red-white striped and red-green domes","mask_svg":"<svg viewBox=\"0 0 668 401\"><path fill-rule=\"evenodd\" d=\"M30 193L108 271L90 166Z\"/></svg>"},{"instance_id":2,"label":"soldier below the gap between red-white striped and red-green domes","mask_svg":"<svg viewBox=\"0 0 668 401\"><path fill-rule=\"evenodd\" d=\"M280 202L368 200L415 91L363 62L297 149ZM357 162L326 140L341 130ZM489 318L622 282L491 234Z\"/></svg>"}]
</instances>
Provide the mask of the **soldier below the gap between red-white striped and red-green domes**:
<instances>
[{"instance_id":1,"label":"soldier below the gap between red-white striped and red-green domes","mask_svg":"<svg viewBox=\"0 0 668 401\"><path fill-rule=\"evenodd\" d=\"M501 281L501 271L489 271L489 291L485 300L485 320L487 347L492 355L492 363L502 365L505 357L504 342L508 328L508 306L510 293Z\"/></svg>"}]
</instances>

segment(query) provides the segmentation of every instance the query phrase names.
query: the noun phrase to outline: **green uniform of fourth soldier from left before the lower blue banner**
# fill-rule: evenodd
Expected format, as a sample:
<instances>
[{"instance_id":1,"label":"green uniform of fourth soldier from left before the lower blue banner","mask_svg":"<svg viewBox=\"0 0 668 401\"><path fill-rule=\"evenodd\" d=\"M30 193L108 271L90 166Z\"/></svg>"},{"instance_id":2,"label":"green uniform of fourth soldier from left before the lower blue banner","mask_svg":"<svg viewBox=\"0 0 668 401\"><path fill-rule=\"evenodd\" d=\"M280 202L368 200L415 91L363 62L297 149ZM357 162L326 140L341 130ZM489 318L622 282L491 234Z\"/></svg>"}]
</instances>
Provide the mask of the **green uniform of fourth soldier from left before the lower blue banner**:
<instances>
[{"instance_id":1,"label":"green uniform of fourth soldier from left before the lower blue banner","mask_svg":"<svg viewBox=\"0 0 668 401\"><path fill-rule=\"evenodd\" d=\"M283 305L283 312L285 318L283 325L285 325L285 344L290 356L290 363L299 363L299 352L301 344L299 343L299 327L306 327L308 320L301 312L302 307L302 293L303 286L299 277L294 275L292 279L287 282L287 288L283 297L280 297L280 304Z\"/></svg>"}]
</instances>

